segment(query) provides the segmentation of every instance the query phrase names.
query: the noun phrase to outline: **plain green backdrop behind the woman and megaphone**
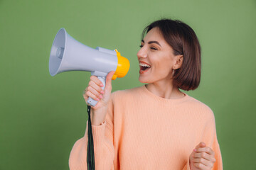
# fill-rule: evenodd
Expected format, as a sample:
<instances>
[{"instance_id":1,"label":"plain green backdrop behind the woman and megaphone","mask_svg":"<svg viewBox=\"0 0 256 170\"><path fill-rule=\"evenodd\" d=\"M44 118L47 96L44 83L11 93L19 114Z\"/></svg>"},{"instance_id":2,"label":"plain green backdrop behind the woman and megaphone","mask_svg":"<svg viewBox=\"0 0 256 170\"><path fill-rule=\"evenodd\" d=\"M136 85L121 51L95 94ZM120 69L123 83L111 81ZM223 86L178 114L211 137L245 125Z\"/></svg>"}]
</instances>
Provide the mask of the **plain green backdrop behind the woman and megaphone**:
<instances>
[{"instance_id":1,"label":"plain green backdrop behind the woman and megaphone","mask_svg":"<svg viewBox=\"0 0 256 170\"><path fill-rule=\"evenodd\" d=\"M90 73L48 71L60 28L129 59L127 76L112 82L116 91L142 85L141 33L162 17L188 23L201 42L201 84L187 94L215 113L224 169L256 169L255 0L0 0L0 169L68 169L85 133Z\"/></svg>"}]
</instances>

